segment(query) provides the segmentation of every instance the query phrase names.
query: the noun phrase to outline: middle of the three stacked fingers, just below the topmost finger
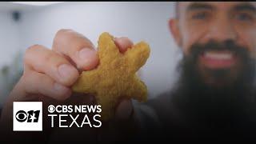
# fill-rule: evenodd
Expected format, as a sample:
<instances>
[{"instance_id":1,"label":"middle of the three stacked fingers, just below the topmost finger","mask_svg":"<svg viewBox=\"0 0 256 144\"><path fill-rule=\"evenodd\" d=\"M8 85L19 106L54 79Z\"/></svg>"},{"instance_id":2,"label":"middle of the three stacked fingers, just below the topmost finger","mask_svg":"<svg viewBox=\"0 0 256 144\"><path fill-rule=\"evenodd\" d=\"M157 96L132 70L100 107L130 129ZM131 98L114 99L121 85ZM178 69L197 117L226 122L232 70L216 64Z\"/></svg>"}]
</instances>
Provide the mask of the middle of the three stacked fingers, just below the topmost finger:
<instances>
[{"instance_id":1,"label":"middle of the three stacked fingers, just below the topmost finger","mask_svg":"<svg viewBox=\"0 0 256 144\"><path fill-rule=\"evenodd\" d=\"M24 73L35 70L63 86L71 86L78 78L78 70L66 58L44 46L35 45L26 50L24 63Z\"/></svg>"}]
</instances>

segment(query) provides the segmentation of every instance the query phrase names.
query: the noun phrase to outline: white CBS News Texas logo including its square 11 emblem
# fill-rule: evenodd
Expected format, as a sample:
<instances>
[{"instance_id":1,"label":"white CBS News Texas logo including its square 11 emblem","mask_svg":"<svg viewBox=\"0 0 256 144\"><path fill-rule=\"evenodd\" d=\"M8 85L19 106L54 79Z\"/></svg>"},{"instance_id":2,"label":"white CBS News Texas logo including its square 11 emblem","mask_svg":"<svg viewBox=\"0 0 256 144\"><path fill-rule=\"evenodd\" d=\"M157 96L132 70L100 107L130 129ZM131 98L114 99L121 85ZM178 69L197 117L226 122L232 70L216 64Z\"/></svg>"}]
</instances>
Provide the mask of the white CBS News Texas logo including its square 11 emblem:
<instances>
[{"instance_id":1,"label":"white CBS News Texas logo including its square 11 emblem","mask_svg":"<svg viewBox=\"0 0 256 144\"><path fill-rule=\"evenodd\" d=\"M42 102L14 102L13 111L13 130L14 131L42 131ZM89 106L89 105L58 105L48 106L48 117L50 117L51 127L101 127L102 109L100 105ZM55 114L52 114L56 112ZM76 116L72 115L76 114ZM93 118L90 119L88 114L94 114ZM77 122L77 119L82 118L81 124ZM69 126L66 124L68 120L71 120ZM54 125L54 122L58 122L58 126ZM66 124L63 122L67 122Z\"/></svg>"}]
</instances>

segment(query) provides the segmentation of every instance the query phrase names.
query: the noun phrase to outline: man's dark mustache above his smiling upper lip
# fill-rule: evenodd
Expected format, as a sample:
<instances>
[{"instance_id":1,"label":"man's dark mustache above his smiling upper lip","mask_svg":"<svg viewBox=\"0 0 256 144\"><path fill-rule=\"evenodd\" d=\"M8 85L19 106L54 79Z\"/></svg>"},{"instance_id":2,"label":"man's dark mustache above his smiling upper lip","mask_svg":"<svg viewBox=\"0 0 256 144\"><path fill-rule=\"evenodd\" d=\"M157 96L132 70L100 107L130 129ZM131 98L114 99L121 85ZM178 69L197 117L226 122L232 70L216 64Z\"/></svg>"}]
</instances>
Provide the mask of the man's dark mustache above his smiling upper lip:
<instances>
[{"instance_id":1,"label":"man's dark mustache above his smiling upper lip","mask_svg":"<svg viewBox=\"0 0 256 144\"><path fill-rule=\"evenodd\" d=\"M200 54L203 54L206 51L221 51L228 50L238 57L249 58L250 52L246 46L240 46L234 40L226 40L223 42L209 41L205 44L202 43L194 43L190 46L189 57L192 59L198 58Z\"/></svg>"}]
</instances>

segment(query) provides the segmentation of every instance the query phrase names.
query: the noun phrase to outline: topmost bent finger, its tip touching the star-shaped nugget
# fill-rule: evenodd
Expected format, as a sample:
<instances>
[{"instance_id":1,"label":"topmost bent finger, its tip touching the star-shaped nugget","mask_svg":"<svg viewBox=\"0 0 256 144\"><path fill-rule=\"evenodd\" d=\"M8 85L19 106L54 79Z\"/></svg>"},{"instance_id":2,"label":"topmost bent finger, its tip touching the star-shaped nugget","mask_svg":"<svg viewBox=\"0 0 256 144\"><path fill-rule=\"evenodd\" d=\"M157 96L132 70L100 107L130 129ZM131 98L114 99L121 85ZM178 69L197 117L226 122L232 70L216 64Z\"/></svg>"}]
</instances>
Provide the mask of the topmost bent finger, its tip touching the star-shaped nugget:
<instances>
[{"instance_id":1,"label":"topmost bent finger, its tip touching the star-shaped nugget","mask_svg":"<svg viewBox=\"0 0 256 144\"><path fill-rule=\"evenodd\" d=\"M98 65L98 54L88 38L73 30L59 30L53 50L69 57L81 70L92 70Z\"/></svg>"}]
</instances>

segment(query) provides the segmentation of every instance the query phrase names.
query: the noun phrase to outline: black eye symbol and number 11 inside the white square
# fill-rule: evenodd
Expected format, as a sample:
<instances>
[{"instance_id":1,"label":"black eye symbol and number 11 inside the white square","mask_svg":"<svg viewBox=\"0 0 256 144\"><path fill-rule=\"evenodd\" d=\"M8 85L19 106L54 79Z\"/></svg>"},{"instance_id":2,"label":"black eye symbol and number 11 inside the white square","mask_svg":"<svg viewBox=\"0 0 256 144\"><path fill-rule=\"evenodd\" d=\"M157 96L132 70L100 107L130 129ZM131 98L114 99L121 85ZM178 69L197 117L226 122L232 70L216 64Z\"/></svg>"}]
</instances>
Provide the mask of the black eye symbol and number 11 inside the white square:
<instances>
[{"instance_id":1,"label":"black eye symbol and number 11 inside the white square","mask_svg":"<svg viewBox=\"0 0 256 144\"><path fill-rule=\"evenodd\" d=\"M38 122L39 114L40 110L30 110L28 112L19 110L15 118L18 122Z\"/></svg>"}]
</instances>

